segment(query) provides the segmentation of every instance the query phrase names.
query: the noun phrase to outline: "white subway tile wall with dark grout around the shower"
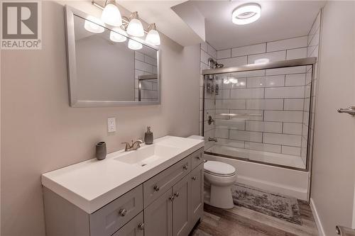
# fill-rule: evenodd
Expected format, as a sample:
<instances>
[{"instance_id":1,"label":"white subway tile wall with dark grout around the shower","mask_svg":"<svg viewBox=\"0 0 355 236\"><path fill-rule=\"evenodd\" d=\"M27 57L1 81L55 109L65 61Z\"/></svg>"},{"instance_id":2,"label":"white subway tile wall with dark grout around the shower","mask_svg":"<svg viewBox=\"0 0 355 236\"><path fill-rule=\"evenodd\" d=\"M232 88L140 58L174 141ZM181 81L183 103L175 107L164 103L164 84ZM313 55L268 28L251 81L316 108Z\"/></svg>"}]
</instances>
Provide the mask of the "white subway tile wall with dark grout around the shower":
<instances>
[{"instance_id":1,"label":"white subway tile wall with dark grout around the shower","mask_svg":"<svg viewBox=\"0 0 355 236\"><path fill-rule=\"evenodd\" d=\"M303 58L315 53L309 52L311 42L309 36L302 36L219 51L202 43L201 69L207 69L209 57L224 67ZM204 88L204 101L201 76L200 127L204 124L205 140L218 140L207 141L206 149L222 145L301 157L302 145L307 143L304 116L305 104L310 102L311 72L310 67L302 66L217 74L205 82L217 85L218 91ZM211 124L209 116L214 120Z\"/></svg>"}]
</instances>

